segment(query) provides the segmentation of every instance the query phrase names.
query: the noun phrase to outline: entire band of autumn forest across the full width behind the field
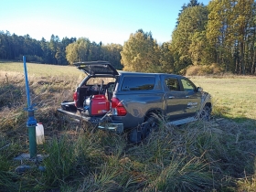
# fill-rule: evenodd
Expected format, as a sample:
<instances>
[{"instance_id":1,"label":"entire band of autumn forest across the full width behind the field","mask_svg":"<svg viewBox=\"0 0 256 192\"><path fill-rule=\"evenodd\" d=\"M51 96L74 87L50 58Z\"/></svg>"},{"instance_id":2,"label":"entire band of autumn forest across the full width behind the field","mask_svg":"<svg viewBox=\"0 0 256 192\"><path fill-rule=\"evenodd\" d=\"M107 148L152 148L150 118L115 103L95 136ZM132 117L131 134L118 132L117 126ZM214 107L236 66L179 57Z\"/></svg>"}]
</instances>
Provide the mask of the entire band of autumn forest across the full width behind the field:
<instances>
[{"instance_id":1,"label":"entire band of autumn forest across the full width behind the field","mask_svg":"<svg viewBox=\"0 0 256 192\"><path fill-rule=\"evenodd\" d=\"M181 7L170 34L172 40L158 44L151 31L138 29L123 45L104 45L86 37L52 35L47 41L0 31L0 59L26 55L28 62L53 65L108 60L116 69L130 71L255 75L254 0L212 0L208 5L190 0Z\"/></svg>"}]
</instances>

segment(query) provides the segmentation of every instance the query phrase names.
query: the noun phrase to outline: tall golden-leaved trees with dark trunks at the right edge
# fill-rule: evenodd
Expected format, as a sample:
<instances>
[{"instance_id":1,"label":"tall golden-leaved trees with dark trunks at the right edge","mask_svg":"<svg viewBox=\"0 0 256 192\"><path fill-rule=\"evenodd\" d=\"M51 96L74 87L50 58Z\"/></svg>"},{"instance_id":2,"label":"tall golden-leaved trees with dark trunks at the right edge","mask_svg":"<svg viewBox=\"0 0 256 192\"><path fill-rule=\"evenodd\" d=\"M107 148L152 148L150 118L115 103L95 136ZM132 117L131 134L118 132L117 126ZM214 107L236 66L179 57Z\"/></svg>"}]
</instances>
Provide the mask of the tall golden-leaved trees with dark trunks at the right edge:
<instances>
[{"instance_id":1,"label":"tall golden-leaved trees with dark trunks at the right edge","mask_svg":"<svg viewBox=\"0 0 256 192\"><path fill-rule=\"evenodd\" d=\"M215 0L208 5L208 41L215 48L215 62L226 71L245 74L251 70L253 5L253 0Z\"/></svg>"}]
</instances>

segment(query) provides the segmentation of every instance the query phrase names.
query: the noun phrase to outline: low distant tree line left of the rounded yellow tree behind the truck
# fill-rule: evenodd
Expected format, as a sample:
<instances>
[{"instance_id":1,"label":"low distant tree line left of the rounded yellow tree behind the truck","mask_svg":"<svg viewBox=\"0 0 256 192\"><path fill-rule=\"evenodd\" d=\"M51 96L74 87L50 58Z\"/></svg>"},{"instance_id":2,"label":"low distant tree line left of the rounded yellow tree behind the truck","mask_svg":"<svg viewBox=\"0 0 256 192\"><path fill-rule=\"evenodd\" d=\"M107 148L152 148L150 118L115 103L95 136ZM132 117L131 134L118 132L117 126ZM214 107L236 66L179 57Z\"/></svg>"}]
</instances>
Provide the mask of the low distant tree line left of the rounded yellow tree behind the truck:
<instances>
[{"instance_id":1,"label":"low distant tree line left of the rounded yellow tree behind the truck","mask_svg":"<svg viewBox=\"0 0 256 192\"><path fill-rule=\"evenodd\" d=\"M76 61L108 60L116 69L123 69L121 64L121 45L102 45L91 42L88 38L64 37L52 35L49 41L44 37L36 40L29 35L11 35L0 31L0 59L22 60L26 55L28 62L68 65Z\"/></svg>"}]
</instances>

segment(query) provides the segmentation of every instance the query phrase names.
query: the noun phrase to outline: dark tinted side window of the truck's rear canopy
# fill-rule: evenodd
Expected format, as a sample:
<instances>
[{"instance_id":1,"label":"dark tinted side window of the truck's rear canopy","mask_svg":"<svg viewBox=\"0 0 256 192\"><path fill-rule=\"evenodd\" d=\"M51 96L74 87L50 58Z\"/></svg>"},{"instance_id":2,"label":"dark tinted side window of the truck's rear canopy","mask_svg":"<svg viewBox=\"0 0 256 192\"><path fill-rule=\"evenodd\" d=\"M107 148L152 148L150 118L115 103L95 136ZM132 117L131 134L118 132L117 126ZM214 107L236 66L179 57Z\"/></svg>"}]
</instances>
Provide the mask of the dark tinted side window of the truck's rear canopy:
<instances>
[{"instance_id":1,"label":"dark tinted side window of the truck's rear canopy","mask_svg":"<svg viewBox=\"0 0 256 192\"><path fill-rule=\"evenodd\" d=\"M122 91L153 90L155 77L124 77Z\"/></svg>"}]
</instances>

